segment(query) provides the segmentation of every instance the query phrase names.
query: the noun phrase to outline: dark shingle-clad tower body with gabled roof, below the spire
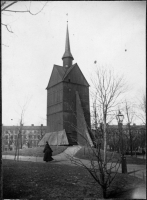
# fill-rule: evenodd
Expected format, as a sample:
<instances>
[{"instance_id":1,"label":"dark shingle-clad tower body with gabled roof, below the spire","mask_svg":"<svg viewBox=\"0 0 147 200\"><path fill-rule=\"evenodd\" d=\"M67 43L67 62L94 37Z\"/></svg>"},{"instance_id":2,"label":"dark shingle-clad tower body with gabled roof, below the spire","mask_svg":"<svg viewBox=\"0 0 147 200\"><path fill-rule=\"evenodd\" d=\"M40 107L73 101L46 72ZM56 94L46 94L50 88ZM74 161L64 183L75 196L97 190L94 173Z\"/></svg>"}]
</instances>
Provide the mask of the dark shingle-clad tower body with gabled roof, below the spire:
<instances>
[{"instance_id":1,"label":"dark shingle-clad tower body with gabled roof, below the spire","mask_svg":"<svg viewBox=\"0 0 147 200\"><path fill-rule=\"evenodd\" d=\"M65 129L68 139L77 138L76 91L79 93L87 126L91 127L89 84L77 64L68 68L54 65L46 89L49 132Z\"/></svg>"}]
</instances>

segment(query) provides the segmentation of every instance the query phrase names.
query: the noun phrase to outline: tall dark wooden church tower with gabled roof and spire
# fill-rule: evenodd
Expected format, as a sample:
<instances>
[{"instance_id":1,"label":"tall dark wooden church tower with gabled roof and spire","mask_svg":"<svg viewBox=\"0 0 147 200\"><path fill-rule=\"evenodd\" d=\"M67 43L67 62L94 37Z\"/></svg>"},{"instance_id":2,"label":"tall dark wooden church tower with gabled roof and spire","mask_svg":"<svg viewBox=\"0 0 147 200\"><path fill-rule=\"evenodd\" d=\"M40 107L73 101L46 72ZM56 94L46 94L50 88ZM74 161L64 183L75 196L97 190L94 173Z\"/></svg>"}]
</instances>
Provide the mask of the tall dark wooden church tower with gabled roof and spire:
<instances>
[{"instance_id":1,"label":"tall dark wooden church tower with gabled roof and spire","mask_svg":"<svg viewBox=\"0 0 147 200\"><path fill-rule=\"evenodd\" d=\"M67 25L63 66L54 65L47 86L48 132L66 132L69 144L91 143L89 84L77 63L73 64ZM80 133L80 134L79 134Z\"/></svg>"}]
</instances>

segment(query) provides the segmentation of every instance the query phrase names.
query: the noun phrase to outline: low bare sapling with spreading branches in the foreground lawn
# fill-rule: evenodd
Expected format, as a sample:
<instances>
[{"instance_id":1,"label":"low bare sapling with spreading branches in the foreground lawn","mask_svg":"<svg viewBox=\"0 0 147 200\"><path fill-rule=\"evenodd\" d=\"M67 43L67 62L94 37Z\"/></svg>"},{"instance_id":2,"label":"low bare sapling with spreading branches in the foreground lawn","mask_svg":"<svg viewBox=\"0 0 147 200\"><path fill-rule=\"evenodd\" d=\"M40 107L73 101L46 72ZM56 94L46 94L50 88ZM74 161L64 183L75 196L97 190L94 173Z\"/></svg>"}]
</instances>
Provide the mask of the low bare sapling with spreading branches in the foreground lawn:
<instances>
[{"instance_id":1,"label":"low bare sapling with spreading branches in the foreground lawn","mask_svg":"<svg viewBox=\"0 0 147 200\"><path fill-rule=\"evenodd\" d=\"M91 146L89 140L80 131L71 124L76 130L80 137L85 140L87 155L89 157L89 163L84 163L81 159L70 156L67 154L67 158L75 165L85 168L91 177L102 189L103 198L107 197L108 188L110 188L114 181L120 167L120 156L116 157L114 153L109 154L109 166L105 165L102 158L101 143L97 144L94 148ZM84 147L85 148L85 147Z\"/></svg>"}]
</instances>

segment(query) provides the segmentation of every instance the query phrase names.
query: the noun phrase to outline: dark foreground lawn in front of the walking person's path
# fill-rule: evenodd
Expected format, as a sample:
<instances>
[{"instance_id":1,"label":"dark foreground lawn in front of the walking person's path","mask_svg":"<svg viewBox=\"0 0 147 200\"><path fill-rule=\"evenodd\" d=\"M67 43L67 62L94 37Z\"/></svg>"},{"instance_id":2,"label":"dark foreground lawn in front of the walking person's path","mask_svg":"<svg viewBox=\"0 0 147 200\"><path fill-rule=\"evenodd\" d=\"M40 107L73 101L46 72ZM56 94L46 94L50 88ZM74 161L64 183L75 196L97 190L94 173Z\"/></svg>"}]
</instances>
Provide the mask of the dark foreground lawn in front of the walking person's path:
<instances>
[{"instance_id":1,"label":"dark foreground lawn in front of the walking person's path","mask_svg":"<svg viewBox=\"0 0 147 200\"><path fill-rule=\"evenodd\" d=\"M3 160L3 199L102 198L100 186L86 170L54 162ZM141 179L118 174L107 195L131 199L138 187L145 187Z\"/></svg>"}]
</instances>

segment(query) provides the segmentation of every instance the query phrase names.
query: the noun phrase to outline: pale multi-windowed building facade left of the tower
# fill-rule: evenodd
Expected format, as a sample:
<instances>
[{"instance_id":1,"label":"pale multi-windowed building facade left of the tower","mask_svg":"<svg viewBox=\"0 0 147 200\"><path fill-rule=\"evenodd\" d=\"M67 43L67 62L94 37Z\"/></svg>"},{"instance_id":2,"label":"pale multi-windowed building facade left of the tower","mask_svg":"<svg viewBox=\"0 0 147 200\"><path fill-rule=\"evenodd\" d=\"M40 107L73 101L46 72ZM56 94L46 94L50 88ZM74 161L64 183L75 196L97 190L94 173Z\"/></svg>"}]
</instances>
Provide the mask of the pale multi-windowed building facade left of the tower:
<instances>
[{"instance_id":1,"label":"pale multi-windowed building facade left of the tower","mask_svg":"<svg viewBox=\"0 0 147 200\"><path fill-rule=\"evenodd\" d=\"M36 147L45 135L46 126L3 126L2 127L2 150L15 150L19 148Z\"/></svg>"}]
</instances>

